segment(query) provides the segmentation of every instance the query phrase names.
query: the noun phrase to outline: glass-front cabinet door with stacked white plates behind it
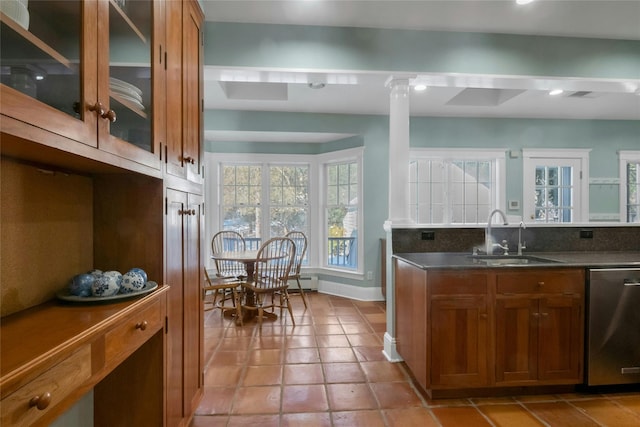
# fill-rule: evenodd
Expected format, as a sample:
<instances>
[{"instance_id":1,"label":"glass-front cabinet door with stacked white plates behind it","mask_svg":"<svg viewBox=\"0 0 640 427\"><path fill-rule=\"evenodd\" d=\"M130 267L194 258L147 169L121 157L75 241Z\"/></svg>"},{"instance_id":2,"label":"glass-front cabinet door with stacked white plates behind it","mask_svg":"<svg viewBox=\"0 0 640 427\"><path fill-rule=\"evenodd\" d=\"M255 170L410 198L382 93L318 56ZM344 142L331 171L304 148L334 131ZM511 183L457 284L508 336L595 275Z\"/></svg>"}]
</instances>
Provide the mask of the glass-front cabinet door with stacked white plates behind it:
<instances>
[{"instance_id":1,"label":"glass-front cabinet door with stacked white plates behind it","mask_svg":"<svg viewBox=\"0 0 640 427\"><path fill-rule=\"evenodd\" d=\"M154 90L161 90L156 80L162 76L153 64L162 60L154 31L160 7L161 2L152 0L102 0L98 10L98 46L108 52L98 64L98 98L105 118L98 123L98 146L156 167L160 153L154 122L161 104L154 108Z\"/></svg>"}]
</instances>

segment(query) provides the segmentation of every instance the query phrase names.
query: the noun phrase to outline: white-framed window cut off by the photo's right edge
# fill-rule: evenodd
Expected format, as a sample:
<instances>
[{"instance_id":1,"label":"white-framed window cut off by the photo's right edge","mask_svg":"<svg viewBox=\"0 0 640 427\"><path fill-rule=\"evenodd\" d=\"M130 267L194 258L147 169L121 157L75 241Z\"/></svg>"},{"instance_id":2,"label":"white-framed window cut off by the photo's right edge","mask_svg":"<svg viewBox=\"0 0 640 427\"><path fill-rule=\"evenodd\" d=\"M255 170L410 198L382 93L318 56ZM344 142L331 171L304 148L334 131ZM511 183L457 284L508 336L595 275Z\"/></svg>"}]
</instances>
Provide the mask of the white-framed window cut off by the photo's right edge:
<instances>
[{"instance_id":1,"label":"white-framed window cut off by the photo's right edge","mask_svg":"<svg viewBox=\"0 0 640 427\"><path fill-rule=\"evenodd\" d=\"M620 221L640 223L640 151L620 151Z\"/></svg>"}]
</instances>

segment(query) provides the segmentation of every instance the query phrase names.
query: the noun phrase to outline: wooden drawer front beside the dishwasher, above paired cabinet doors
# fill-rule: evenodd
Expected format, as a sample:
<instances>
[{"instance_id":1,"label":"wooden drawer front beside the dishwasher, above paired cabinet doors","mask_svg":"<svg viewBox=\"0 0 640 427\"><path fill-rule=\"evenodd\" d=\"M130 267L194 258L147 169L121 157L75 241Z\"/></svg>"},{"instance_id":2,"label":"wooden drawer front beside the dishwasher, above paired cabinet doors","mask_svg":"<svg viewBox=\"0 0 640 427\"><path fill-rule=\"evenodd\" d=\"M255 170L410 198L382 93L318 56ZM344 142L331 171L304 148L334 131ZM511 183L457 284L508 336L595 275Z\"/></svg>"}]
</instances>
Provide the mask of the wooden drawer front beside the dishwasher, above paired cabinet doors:
<instances>
[{"instance_id":1,"label":"wooden drawer front beside the dishwasher, above paired cabinet doors","mask_svg":"<svg viewBox=\"0 0 640 427\"><path fill-rule=\"evenodd\" d=\"M498 294L582 293L582 270L540 270L499 273L496 277Z\"/></svg>"}]
</instances>

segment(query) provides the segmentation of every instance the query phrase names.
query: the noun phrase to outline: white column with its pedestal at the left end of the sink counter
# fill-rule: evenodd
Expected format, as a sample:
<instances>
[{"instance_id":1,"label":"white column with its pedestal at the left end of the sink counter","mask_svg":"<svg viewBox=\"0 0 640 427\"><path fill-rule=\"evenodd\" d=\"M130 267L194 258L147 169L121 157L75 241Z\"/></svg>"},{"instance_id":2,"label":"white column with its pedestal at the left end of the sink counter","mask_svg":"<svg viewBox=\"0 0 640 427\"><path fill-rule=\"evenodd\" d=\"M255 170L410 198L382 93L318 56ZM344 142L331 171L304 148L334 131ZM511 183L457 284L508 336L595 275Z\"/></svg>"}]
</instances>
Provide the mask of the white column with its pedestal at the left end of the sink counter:
<instances>
[{"instance_id":1,"label":"white column with its pedestal at the left end of the sink counter","mask_svg":"<svg viewBox=\"0 0 640 427\"><path fill-rule=\"evenodd\" d=\"M387 237L387 331L384 334L384 355L392 362L402 357L396 350L396 307L393 283L393 227L411 224L409 215L409 78L391 77L389 109L389 219L384 223Z\"/></svg>"}]
</instances>

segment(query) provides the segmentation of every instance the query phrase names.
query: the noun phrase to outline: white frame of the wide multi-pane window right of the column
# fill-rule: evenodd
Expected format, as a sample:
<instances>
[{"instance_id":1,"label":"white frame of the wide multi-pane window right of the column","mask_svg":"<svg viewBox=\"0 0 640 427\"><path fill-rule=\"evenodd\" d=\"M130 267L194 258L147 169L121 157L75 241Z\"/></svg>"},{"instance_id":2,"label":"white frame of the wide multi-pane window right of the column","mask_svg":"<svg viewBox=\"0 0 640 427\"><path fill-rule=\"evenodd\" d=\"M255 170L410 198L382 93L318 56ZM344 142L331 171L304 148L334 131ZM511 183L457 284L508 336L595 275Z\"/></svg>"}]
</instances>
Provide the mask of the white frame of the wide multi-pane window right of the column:
<instances>
[{"instance_id":1,"label":"white frame of the wide multi-pane window right of the column","mask_svg":"<svg viewBox=\"0 0 640 427\"><path fill-rule=\"evenodd\" d=\"M495 183L495 191L492 195L493 206L489 210L502 209L506 207L506 149L504 148L411 148L409 150L409 161L417 160L439 160L444 162L456 162L456 161L491 161L492 162L492 182ZM408 165L409 166L409 165ZM410 182L407 183L410 185ZM451 185L451 182L447 181L447 185ZM410 202L410 200L408 201ZM409 211L413 209L413 206L409 205ZM446 209L451 210L451 206L447 203ZM448 221L442 223L423 223L428 225L481 225L486 224L485 220L478 218L478 222L451 222L451 212L445 214ZM481 221L482 220L482 221ZM420 222L416 222L421 224Z\"/></svg>"}]
</instances>

